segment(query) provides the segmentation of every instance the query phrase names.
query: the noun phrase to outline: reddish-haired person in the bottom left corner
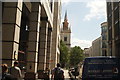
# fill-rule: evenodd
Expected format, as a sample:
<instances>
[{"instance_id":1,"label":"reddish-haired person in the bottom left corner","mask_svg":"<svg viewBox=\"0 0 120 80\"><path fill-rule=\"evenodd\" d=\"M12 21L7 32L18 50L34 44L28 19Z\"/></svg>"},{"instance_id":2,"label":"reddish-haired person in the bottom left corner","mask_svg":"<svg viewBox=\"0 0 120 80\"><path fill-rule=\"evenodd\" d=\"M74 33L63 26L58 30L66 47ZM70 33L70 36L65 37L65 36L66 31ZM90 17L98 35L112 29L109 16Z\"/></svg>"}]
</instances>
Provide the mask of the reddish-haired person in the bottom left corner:
<instances>
[{"instance_id":1,"label":"reddish-haired person in the bottom left corner","mask_svg":"<svg viewBox=\"0 0 120 80\"><path fill-rule=\"evenodd\" d=\"M14 80L13 76L8 73L8 65L2 64L2 79L1 80Z\"/></svg>"}]
</instances>

